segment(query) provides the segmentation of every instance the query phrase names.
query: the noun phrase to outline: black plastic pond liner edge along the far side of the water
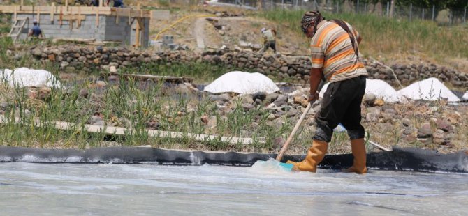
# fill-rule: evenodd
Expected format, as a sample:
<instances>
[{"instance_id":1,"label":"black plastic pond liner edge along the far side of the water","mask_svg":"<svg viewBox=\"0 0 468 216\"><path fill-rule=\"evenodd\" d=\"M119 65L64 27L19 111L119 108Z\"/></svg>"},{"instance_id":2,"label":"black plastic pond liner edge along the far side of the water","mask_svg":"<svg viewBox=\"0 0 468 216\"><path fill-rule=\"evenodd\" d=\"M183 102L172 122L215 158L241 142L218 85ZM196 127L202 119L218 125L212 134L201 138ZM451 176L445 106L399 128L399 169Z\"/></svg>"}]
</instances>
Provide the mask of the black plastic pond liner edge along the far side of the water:
<instances>
[{"instance_id":1,"label":"black plastic pond liner edge along the far side of the water","mask_svg":"<svg viewBox=\"0 0 468 216\"><path fill-rule=\"evenodd\" d=\"M305 155L286 155L284 161L299 161ZM217 164L248 167L276 154L210 151L179 151L145 147L108 147L77 149L43 149L0 147L0 162L43 163L156 163L165 165ZM351 154L326 155L322 169L344 169L353 162ZM468 173L468 151L439 154L418 148L393 147L390 152L367 154L367 167L376 170Z\"/></svg>"}]
</instances>

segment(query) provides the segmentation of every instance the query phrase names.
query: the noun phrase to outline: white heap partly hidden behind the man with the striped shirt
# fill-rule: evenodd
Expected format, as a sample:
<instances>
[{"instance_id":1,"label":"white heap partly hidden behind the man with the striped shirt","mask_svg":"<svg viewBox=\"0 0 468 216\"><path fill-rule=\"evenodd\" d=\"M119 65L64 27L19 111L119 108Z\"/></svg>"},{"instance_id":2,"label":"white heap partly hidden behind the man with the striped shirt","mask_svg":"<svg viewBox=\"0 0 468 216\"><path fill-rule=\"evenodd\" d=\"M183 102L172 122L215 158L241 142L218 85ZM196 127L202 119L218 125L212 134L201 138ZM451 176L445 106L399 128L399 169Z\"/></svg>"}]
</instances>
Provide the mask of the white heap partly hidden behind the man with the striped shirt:
<instances>
[{"instance_id":1,"label":"white heap partly hidden behind the man with the striped shirt","mask_svg":"<svg viewBox=\"0 0 468 216\"><path fill-rule=\"evenodd\" d=\"M407 102L407 99L398 93L395 88L381 79L365 79L365 82L366 94L372 93L376 98L381 98L385 102ZM323 97L323 93L327 90L328 84L329 83L325 84L320 91L319 96L321 98Z\"/></svg>"}]
</instances>

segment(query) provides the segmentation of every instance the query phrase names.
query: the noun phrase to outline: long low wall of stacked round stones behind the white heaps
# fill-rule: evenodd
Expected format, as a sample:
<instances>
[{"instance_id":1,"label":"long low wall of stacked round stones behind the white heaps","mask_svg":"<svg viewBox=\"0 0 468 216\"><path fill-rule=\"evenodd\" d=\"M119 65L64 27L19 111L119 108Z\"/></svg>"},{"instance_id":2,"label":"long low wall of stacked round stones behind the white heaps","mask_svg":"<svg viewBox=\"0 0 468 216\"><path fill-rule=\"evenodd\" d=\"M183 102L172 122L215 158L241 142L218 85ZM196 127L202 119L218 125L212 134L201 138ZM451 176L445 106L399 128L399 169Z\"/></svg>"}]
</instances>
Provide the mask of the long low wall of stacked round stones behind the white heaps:
<instances>
[{"instance_id":1,"label":"long low wall of stacked round stones behind the white heaps","mask_svg":"<svg viewBox=\"0 0 468 216\"><path fill-rule=\"evenodd\" d=\"M254 52L218 51L195 55L187 51L155 53L149 50L137 51L122 47L79 47L74 45L33 47L36 59L53 61L67 72L89 72L93 68L108 70L141 65L141 63L189 63L206 62L226 65L228 68L241 68L249 72L261 72L270 77L290 79L293 82L305 83L309 78L310 61L306 56L285 56L281 54L262 55ZM364 61L370 79L383 79L397 86L395 76L407 86L416 80L437 77L442 82L455 87L467 88L468 77L457 70L440 67L434 64L395 64L390 65L395 72L379 63Z\"/></svg>"}]
</instances>

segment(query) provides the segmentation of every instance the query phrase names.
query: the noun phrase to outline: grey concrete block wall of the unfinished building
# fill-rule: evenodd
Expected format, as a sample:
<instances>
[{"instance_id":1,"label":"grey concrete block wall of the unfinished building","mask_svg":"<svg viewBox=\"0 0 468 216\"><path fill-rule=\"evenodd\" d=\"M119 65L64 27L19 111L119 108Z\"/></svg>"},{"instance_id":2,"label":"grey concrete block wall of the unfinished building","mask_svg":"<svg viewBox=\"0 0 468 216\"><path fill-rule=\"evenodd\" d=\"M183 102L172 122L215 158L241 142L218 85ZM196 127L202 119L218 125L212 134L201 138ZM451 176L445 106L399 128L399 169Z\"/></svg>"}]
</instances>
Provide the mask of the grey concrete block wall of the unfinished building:
<instances>
[{"instance_id":1,"label":"grey concrete block wall of the unfinished building","mask_svg":"<svg viewBox=\"0 0 468 216\"><path fill-rule=\"evenodd\" d=\"M27 38L29 29L33 26L33 20L39 20L39 26L43 31L45 38L82 38L96 39L96 41L112 40L120 41L124 45L135 44L135 30L131 27L136 26L136 20L129 25L128 17L119 17L119 22L116 23L115 16L99 16L99 24L96 26L96 15L83 15L85 20L81 21L80 28L77 29L78 22L73 22L73 29L70 29L70 22L62 20L60 25L59 15L54 16L54 21L50 21L50 15L41 15L37 17L35 14L18 14L17 17L29 17L29 21L24 25L20 39ZM133 19L132 19L133 20ZM145 18L145 30L141 33L141 45L147 47L149 43L149 18ZM12 26L13 26L12 21Z\"/></svg>"}]
</instances>

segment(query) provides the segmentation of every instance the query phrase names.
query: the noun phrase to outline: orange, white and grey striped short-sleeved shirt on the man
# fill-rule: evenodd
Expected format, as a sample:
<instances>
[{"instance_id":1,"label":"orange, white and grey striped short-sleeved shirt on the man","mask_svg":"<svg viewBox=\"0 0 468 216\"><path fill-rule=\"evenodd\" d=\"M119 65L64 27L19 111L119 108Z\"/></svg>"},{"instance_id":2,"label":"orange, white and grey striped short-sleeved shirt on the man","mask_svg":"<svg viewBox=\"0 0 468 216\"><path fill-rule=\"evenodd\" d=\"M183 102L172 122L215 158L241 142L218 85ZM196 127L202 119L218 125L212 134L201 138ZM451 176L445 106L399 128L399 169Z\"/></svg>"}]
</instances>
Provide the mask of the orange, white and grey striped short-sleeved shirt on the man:
<instances>
[{"instance_id":1,"label":"orange, white and grey striped short-sleeved shirt on the man","mask_svg":"<svg viewBox=\"0 0 468 216\"><path fill-rule=\"evenodd\" d=\"M347 22L344 23L354 33L357 44L358 31ZM354 52L349 34L335 22L323 20L319 23L310 41L310 49L312 68L323 68L323 75L328 82L367 76L364 64Z\"/></svg>"}]
</instances>

